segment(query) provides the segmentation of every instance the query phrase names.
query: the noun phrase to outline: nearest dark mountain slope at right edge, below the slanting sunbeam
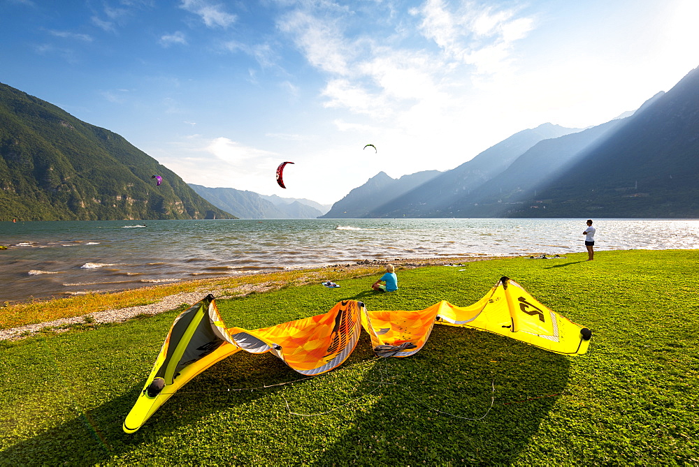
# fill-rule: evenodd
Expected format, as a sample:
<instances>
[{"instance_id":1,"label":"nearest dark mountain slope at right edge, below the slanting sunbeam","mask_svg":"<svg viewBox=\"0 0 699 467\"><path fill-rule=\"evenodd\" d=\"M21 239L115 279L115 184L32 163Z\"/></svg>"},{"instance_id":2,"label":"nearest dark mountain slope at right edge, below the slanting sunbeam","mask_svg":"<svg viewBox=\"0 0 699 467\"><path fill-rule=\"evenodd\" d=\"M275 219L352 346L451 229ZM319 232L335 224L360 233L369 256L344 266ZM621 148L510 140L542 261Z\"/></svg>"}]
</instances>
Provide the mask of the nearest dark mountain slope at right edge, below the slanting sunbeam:
<instances>
[{"instance_id":1,"label":"nearest dark mountain slope at right edge, below the slanting sunbeam","mask_svg":"<svg viewBox=\"0 0 699 467\"><path fill-rule=\"evenodd\" d=\"M517 216L699 218L699 68L538 188ZM524 207L532 198L522 197Z\"/></svg>"}]
</instances>

